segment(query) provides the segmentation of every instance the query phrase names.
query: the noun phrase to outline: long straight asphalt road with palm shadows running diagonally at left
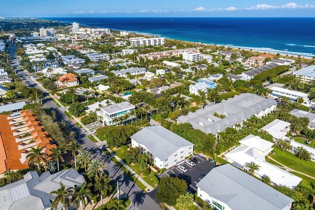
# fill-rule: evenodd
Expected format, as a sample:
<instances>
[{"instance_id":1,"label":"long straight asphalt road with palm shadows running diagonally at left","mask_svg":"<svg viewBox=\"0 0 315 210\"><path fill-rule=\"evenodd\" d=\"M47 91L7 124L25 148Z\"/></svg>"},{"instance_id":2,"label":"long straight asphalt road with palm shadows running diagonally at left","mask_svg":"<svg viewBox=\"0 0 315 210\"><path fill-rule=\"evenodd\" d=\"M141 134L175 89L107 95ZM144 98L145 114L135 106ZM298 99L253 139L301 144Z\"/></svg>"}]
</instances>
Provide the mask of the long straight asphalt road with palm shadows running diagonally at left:
<instances>
[{"instance_id":1,"label":"long straight asphalt road with palm shadows running diagonally at left","mask_svg":"<svg viewBox=\"0 0 315 210\"><path fill-rule=\"evenodd\" d=\"M12 65L17 66L18 60L16 59L16 48L13 47L13 58ZM76 133L77 142L83 145L84 150L90 150L93 152L94 159L101 159L107 164L106 170L108 171L108 175L114 180L114 182L118 181L121 191L129 197L131 201L131 207L129 210L160 210L159 202L157 200L153 200L147 193L144 193L138 185L134 183L122 170L120 170L113 161L109 158L109 156L105 155L103 152L103 147L98 147L94 142L87 137L87 135L78 128L67 116L59 109L59 107L52 101L49 97L49 94L43 91L39 86L34 83L32 77L26 78L26 72L20 70L19 66L17 66L17 75L24 78L23 80L29 85L29 87L37 88L43 92L43 104L45 107L50 108L55 111L56 119L59 121L64 121L69 130L74 131Z\"/></svg>"}]
</instances>

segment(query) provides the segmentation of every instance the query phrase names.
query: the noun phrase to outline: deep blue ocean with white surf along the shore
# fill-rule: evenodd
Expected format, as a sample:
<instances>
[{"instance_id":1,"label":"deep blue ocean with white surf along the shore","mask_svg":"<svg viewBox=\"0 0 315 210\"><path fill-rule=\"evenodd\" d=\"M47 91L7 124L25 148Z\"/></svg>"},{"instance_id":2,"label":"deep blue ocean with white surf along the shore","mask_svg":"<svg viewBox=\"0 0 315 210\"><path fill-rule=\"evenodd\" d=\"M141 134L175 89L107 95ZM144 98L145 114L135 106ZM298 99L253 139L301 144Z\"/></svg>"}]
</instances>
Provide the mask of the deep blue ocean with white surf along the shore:
<instances>
[{"instance_id":1,"label":"deep blue ocean with white surf along the shore","mask_svg":"<svg viewBox=\"0 0 315 210\"><path fill-rule=\"evenodd\" d=\"M315 57L315 18L44 18L172 39Z\"/></svg>"}]
</instances>

